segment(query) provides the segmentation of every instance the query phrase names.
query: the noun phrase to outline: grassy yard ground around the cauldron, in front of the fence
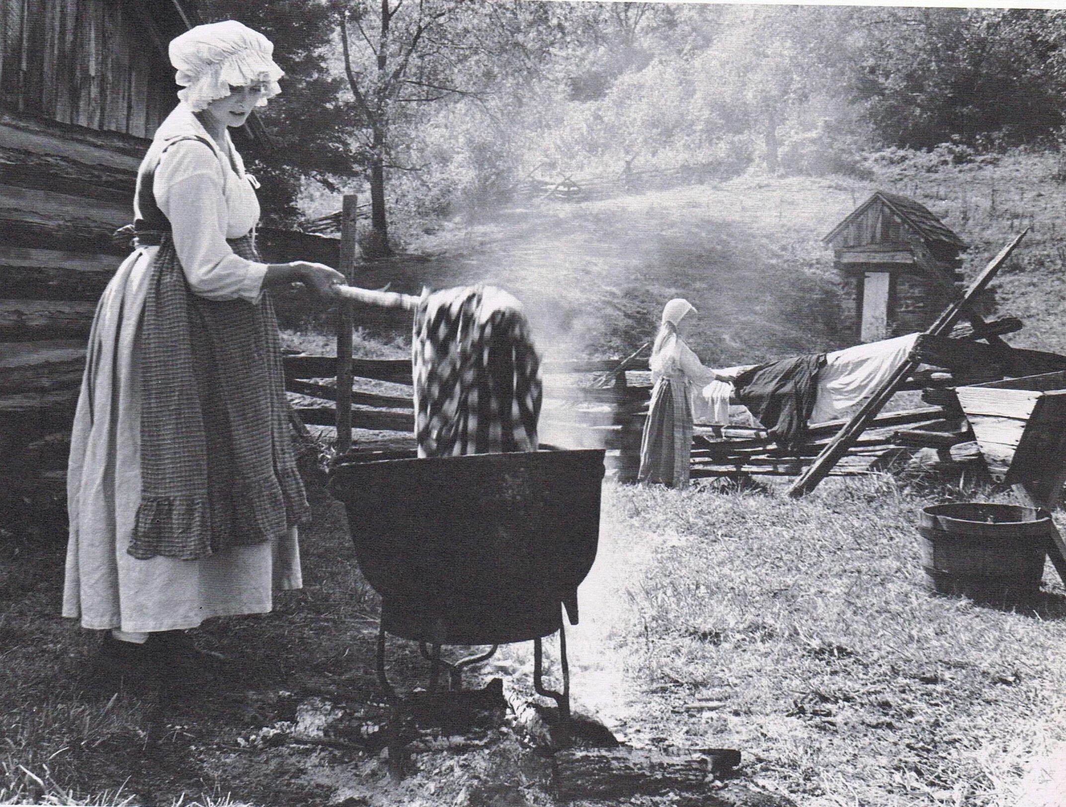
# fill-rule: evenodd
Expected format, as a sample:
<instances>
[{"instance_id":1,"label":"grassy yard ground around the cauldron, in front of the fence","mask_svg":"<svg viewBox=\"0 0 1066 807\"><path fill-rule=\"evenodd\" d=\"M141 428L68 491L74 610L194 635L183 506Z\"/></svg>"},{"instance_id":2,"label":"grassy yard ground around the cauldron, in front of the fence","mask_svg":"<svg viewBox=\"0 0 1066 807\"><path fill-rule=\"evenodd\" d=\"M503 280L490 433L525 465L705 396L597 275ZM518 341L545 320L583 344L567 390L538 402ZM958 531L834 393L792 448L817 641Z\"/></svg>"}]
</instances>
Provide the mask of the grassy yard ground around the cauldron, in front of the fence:
<instances>
[{"instance_id":1,"label":"grassy yard ground around the cauldron, in front of the fence","mask_svg":"<svg viewBox=\"0 0 1066 807\"><path fill-rule=\"evenodd\" d=\"M1013 804L1032 756L1066 740L1066 592L1049 569L1036 614L930 594L915 517L950 494L888 477L802 501L608 484L569 633L576 701L635 746L738 747L747 779L803 807ZM97 638L55 615L58 545L0 565L0 803L472 805L505 775L552 804L511 736L422 754L402 786L381 758L301 744L385 714L376 600L336 505L316 505L303 591L197 631L240 680L162 706L92 688ZM423 672L402 644L390 674L409 688ZM508 647L487 670L515 703L529 655Z\"/></svg>"}]
</instances>

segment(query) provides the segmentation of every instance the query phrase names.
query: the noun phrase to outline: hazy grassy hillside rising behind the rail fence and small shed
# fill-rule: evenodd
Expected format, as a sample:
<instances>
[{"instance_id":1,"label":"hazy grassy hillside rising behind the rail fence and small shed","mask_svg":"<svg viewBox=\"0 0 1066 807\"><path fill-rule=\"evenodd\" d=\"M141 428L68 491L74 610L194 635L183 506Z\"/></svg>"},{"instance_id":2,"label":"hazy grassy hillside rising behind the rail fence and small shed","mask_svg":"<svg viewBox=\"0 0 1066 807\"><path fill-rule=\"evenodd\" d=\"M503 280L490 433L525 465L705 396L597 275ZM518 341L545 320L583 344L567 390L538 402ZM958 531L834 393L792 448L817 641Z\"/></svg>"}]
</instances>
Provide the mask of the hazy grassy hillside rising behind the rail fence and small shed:
<instances>
[{"instance_id":1,"label":"hazy grassy hillside rising behind the rail fence and small shed","mask_svg":"<svg viewBox=\"0 0 1066 807\"><path fill-rule=\"evenodd\" d=\"M533 201L491 218L453 220L410 252L366 267L367 285L502 285L524 300L552 356L624 355L655 333L665 300L700 309L693 345L730 364L839 347L833 256L821 237L877 188L918 199L971 245L972 275L1022 227L1000 275L1000 311L1022 317L1019 346L1066 351L1066 186L1055 154L968 162L897 151L870 178L745 176L587 202Z\"/></svg>"}]
</instances>

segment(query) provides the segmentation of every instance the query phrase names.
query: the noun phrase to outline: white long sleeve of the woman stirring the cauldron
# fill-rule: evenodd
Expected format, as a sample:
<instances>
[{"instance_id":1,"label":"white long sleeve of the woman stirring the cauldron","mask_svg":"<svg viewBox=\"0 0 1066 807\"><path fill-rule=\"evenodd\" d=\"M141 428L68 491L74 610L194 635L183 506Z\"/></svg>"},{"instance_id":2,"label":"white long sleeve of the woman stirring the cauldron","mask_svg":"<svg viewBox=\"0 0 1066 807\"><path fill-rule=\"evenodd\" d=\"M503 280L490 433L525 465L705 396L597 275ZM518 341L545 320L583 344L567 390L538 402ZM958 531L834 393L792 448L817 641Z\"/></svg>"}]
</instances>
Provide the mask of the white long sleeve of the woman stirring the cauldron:
<instances>
[{"instance_id":1,"label":"white long sleeve of the woman stirring the cauldron","mask_svg":"<svg viewBox=\"0 0 1066 807\"><path fill-rule=\"evenodd\" d=\"M174 247L192 291L212 300L255 302L266 264L235 254L226 243L224 181L210 146L181 141L163 153L152 191L171 221Z\"/></svg>"}]
</instances>

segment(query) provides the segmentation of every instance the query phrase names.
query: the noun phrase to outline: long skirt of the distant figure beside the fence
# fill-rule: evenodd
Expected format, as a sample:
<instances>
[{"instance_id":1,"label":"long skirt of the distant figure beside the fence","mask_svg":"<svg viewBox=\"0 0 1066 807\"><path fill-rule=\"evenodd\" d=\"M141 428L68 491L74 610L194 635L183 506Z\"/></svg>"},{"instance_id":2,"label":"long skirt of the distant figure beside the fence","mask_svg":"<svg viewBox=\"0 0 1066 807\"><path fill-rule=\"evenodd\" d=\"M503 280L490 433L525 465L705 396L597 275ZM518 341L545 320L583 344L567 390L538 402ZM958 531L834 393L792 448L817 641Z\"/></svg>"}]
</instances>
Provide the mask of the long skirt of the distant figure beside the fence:
<instances>
[{"instance_id":1,"label":"long skirt of the distant figure beside the fence","mask_svg":"<svg viewBox=\"0 0 1066 807\"><path fill-rule=\"evenodd\" d=\"M651 407L644 424L637 479L685 488L691 455L692 405L685 383L661 378L651 393Z\"/></svg>"}]
</instances>

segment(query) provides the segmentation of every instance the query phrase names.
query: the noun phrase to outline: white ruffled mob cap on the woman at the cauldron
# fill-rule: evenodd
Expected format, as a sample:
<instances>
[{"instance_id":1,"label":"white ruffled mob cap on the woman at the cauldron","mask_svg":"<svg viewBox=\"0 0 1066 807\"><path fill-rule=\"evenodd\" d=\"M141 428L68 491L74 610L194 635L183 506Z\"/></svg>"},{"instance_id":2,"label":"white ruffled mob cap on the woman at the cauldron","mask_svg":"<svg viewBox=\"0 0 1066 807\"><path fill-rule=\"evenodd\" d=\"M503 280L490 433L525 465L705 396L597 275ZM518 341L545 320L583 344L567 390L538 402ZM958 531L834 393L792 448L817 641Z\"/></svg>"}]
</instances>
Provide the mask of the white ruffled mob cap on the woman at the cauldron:
<instances>
[{"instance_id":1,"label":"white ruffled mob cap on the woman at the cauldron","mask_svg":"<svg viewBox=\"0 0 1066 807\"><path fill-rule=\"evenodd\" d=\"M184 87L178 98L195 112L225 98L232 87L262 82L266 92L258 106L281 92L277 80L285 71L274 63L274 43L237 20L191 28L171 40L169 54L177 83Z\"/></svg>"}]
</instances>

